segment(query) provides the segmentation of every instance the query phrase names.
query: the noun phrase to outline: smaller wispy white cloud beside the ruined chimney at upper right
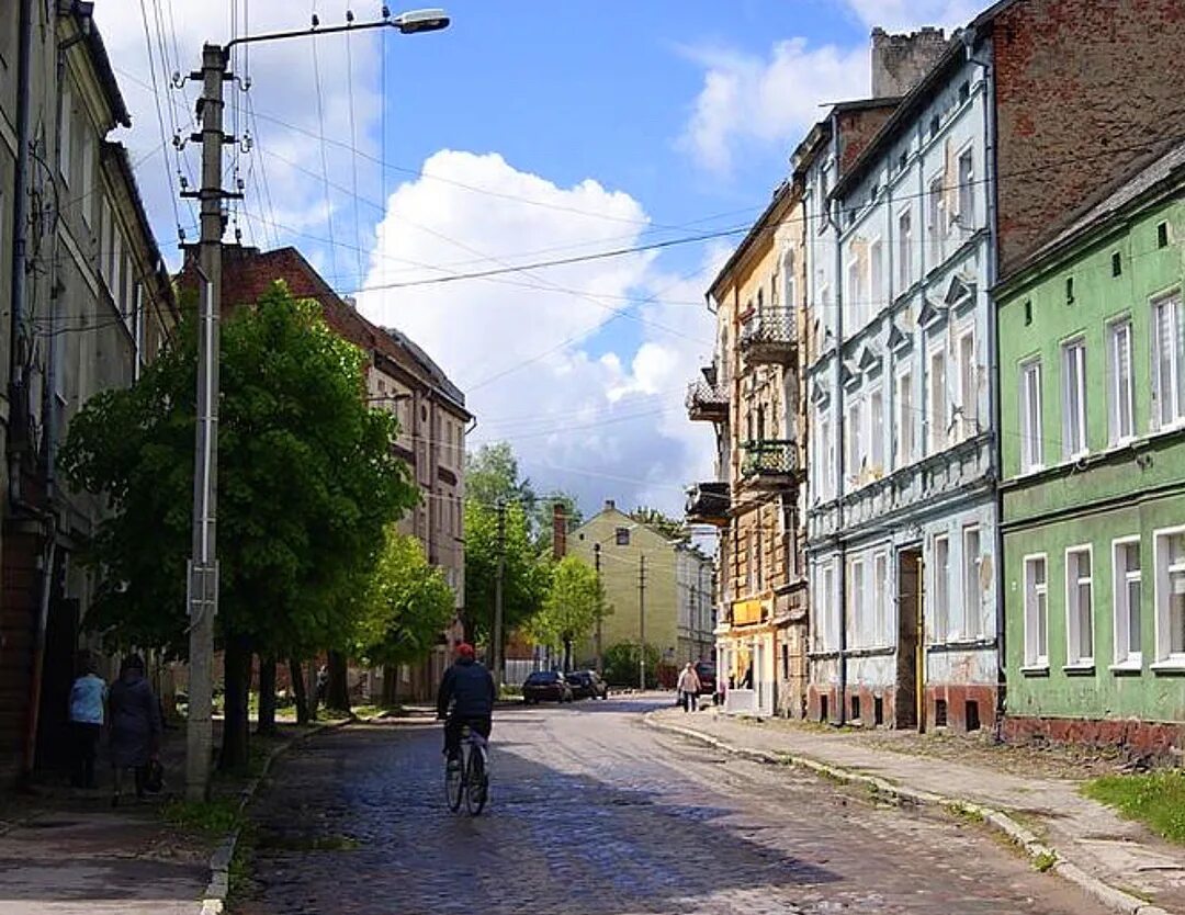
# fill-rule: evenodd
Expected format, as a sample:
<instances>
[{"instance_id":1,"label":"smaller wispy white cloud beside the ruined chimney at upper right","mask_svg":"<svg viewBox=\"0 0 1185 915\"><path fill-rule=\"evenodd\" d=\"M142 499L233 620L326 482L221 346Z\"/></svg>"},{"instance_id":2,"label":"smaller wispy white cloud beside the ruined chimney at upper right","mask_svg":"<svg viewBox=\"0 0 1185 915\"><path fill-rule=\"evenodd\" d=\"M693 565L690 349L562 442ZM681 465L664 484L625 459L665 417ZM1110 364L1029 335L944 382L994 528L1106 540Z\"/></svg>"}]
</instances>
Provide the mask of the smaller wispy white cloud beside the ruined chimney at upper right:
<instances>
[{"instance_id":1,"label":"smaller wispy white cloud beside the ruined chimney at upper right","mask_svg":"<svg viewBox=\"0 0 1185 915\"><path fill-rule=\"evenodd\" d=\"M795 141L818 120L820 104L867 95L864 47L811 47L803 38L790 38L776 43L767 58L687 53L705 73L679 145L717 173L728 173L742 148Z\"/></svg>"}]
</instances>

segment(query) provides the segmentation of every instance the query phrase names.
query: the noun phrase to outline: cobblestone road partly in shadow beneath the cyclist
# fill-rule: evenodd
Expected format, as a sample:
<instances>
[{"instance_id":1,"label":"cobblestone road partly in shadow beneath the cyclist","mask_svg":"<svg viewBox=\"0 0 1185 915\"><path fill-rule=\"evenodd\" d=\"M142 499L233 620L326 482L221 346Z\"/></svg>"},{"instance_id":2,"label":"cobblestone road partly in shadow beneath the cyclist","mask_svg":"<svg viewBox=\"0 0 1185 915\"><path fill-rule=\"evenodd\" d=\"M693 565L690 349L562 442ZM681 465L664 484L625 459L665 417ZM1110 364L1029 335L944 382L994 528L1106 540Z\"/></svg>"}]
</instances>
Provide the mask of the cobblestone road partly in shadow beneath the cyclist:
<instances>
[{"instance_id":1,"label":"cobblestone road partly in shadow beneath the cyclist","mask_svg":"<svg viewBox=\"0 0 1185 915\"><path fill-rule=\"evenodd\" d=\"M438 725L315 737L256 801L232 911L1102 911L976 824L659 735L641 722L653 706L500 709L478 819L444 806Z\"/></svg>"}]
</instances>

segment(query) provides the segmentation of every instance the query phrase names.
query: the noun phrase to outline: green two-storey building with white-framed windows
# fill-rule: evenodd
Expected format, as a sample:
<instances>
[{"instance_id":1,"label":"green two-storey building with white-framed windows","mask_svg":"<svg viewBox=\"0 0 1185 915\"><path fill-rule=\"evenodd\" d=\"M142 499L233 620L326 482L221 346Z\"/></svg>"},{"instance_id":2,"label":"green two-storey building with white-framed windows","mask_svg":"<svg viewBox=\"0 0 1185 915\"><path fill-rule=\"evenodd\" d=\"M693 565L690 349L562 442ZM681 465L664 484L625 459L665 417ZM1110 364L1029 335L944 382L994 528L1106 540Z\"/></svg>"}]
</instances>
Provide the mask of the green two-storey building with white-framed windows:
<instances>
[{"instance_id":1,"label":"green two-storey building with white-framed windows","mask_svg":"<svg viewBox=\"0 0 1185 915\"><path fill-rule=\"evenodd\" d=\"M1011 738L1185 735L1185 146L995 290Z\"/></svg>"}]
</instances>

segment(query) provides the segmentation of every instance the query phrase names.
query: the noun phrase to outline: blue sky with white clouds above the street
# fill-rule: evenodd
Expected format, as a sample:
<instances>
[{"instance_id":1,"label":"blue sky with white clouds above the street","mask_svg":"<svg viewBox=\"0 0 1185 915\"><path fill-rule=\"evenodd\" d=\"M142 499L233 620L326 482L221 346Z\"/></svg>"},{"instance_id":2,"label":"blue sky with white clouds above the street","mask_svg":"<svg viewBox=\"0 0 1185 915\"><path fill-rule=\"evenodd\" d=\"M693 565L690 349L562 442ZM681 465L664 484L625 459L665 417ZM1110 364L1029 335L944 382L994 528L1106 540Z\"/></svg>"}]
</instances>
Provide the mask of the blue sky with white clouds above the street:
<instances>
[{"instance_id":1,"label":"blue sky with white clouds above the street","mask_svg":"<svg viewBox=\"0 0 1185 915\"><path fill-rule=\"evenodd\" d=\"M537 492L681 514L713 435L686 384L704 293L828 102L867 95L869 33L952 27L975 0L454 0L431 34L369 30L237 53L226 241L295 245L467 395ZM392 7L392 13L403 8ZM356 23L382 4L354 0ZM197 238L203 41L341 24L346 2L97 0L161 250ZM249 147L249 148L248 148ZM715 236L704 238L703 236ZM564 265L558 258L661 245ZM508 269L510 268L510 269ZM474 277L474 273L500 271Z\"/></svg>"}]
</instances>

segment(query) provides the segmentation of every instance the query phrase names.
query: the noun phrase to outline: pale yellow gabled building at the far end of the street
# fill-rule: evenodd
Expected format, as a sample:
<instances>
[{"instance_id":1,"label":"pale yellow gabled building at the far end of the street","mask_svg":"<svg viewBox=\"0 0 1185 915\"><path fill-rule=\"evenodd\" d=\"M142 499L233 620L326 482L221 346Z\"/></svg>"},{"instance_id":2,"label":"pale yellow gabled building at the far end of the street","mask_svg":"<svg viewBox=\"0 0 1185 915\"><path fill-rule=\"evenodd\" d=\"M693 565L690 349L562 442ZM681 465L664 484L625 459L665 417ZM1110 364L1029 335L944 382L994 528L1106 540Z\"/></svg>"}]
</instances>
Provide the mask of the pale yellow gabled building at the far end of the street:
<instances>
[{"instance_id":1,"label":"pale yellow gabled building at the far end of the street","mask_svg":"<svg viewBox=\"0 0 1185 915\"><path fill-rule=\"evenodd\" d=\"M568 551L600 565L610 608L601 623L602 652L643 640L667 668L712 657L713 569L698 549L635 522L608 500L572 531ZM594 634L577 648L578 665L591 665L597 641Z\"/></svg>"}]
</instances>

